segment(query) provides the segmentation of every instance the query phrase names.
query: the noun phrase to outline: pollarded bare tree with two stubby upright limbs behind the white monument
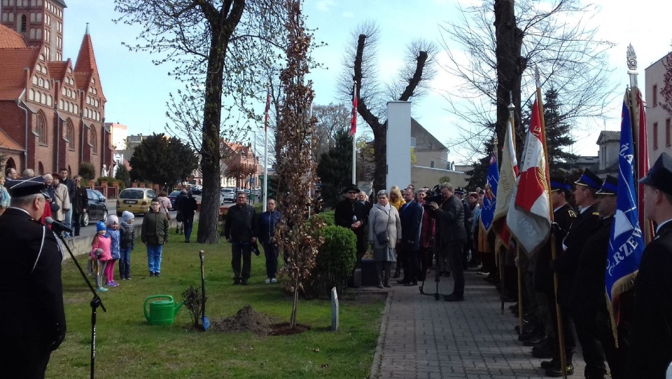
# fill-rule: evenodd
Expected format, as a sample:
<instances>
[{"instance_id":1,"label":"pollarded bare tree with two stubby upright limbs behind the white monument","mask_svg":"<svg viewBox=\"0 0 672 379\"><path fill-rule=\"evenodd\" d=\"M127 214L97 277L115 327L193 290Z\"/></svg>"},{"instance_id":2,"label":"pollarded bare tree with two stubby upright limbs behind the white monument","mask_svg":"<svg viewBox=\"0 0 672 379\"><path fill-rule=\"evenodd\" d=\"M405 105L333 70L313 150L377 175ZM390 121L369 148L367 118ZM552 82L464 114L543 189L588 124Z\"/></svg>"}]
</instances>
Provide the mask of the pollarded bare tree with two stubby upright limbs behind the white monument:
<instances>
[{"instance_id":1,"label":"pollarded bare tree with two stubby upright limbs behind the white monument","mask_svg":"<svg viewBox=\"0 0 672 379\"><path fill-rule=\"evenodd\" d=\"M386 188L385 104L390 100L408 101L426 92L428 81L435 74L433 63L437 48L428 41L410 43L405 55L405 66L393 81L383 83L377 78L377 25L367 22L358 26L356 31L353 33L353 43L344 56L346 69L339 78L339 88L344 97L352 98L353 80L356 82L357 111L373 132L373 186L378 191Z\"/></svg>"}]
</instances>

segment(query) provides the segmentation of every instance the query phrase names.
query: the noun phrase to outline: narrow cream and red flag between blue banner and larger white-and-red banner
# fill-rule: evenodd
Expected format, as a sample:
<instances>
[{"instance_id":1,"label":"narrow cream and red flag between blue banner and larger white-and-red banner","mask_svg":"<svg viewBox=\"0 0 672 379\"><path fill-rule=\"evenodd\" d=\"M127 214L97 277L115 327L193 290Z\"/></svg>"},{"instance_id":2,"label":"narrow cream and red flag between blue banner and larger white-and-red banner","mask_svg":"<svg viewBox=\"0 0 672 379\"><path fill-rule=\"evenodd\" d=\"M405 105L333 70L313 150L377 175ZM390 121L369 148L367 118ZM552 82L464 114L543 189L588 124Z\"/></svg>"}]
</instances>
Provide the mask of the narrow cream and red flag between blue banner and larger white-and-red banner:
<instances>
[{"instance_id":1,"label":"narrow cream and red flag between blue banner and larger white-and-red banner","mask_svg":"<svg viewBox=\"0 0 672 379\"><path fill-rule=\"evenodd\" d=\"M502 162L499 169L499 183L497 184L497 204L492 220L493 230L500 237L505 247L509 246L511 238L509 228L507 227L506 214L509 212L509 204L512 202L511 197L515 190L517 176L518 160L516 159L516 148L513 142L513 125L511 125L511 121L509 120L506 123Z\"/></svg>"}]
</instances>

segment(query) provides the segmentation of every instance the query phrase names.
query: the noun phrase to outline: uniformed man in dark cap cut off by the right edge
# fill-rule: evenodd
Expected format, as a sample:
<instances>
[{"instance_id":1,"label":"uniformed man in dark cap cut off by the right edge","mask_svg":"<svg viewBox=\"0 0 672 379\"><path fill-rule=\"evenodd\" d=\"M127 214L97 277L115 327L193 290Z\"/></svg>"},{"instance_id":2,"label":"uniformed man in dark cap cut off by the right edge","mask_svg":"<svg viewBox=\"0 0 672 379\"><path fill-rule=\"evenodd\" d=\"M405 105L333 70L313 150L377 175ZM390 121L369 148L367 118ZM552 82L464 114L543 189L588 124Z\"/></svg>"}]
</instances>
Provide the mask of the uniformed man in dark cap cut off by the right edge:
<instances>
[{"instance_id":1,"label":"uniformed man in dark cap cut off by the right edge","mask_svg":"<svg viewBox=\"0 0 672 379\"><path fill-rule=\"evenodd\" d=\"M663 379L672 361L672 158L662 153L640 183L646 217L658 227L635 279L626 377Z\"/></svg>"}]
</instances>

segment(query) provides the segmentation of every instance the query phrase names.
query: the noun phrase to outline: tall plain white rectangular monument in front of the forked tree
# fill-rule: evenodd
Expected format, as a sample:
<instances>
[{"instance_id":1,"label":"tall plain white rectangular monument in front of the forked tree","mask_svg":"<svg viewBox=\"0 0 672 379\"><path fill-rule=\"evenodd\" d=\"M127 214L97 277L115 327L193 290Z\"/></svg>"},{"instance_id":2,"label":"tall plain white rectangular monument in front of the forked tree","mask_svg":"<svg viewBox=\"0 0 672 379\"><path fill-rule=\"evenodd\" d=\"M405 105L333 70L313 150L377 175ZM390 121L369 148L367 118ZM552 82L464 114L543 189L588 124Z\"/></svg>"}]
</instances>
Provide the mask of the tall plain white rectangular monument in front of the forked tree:
<instances>
[{"instance_id":1,"label":"tall plain white rectangular monument in front of the forked tree","mask_svg":"<svg viewBox=\"0 0 672 379\"><path fill-rule=\"evenodd\" d=\"M387 103L386 189L411 182L411 103Z\"/></svg>"}]
</instances>

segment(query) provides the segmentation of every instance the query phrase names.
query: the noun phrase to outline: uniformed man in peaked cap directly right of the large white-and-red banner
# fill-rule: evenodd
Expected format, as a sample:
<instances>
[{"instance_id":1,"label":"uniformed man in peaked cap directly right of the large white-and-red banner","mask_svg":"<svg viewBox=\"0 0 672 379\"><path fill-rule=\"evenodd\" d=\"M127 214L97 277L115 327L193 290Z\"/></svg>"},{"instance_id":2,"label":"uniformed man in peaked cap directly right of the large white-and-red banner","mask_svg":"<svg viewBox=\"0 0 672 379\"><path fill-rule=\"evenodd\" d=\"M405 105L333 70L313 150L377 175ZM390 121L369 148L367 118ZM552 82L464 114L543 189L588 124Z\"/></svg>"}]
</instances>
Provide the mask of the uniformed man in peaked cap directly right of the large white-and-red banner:
<instances>
[{"instance_id":1,"label":"uniformed man in peaked cap directly right of the large white-and-red banner","mask_svg":"<svg viewBox=\"0 0 672 379\"><path fill-rule=\"evenodd\" d=\"M562 240L566 237L569 229L576 220L576 212L574 208L567 202L571 196L571 186L567 179L560 177L551 178L551 200L553 204L553 235L555 237L555 254L559 256L562 254ZM556 368L560 369L560 357L558 353L558 321L555 310L555 287L553 284L553 273L549 268L551 261L551 240L546 243L545 247L539 251L539 256L535 266L534 287L538 294L540 308L545 307L545 310L540 310L542 319L547 323L546 333L552 338L548 338L546 343L535 345L533 353L538 358L553 358L552 361L542 362L542 368ZM570 335L565 336L565 347L573 351L575 343L573 342L573 326L569 322L569 315L563 315L563 331L565 334L571 332Z\"/></svg>"}]
</instances>

